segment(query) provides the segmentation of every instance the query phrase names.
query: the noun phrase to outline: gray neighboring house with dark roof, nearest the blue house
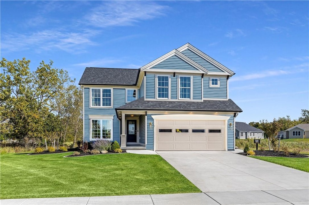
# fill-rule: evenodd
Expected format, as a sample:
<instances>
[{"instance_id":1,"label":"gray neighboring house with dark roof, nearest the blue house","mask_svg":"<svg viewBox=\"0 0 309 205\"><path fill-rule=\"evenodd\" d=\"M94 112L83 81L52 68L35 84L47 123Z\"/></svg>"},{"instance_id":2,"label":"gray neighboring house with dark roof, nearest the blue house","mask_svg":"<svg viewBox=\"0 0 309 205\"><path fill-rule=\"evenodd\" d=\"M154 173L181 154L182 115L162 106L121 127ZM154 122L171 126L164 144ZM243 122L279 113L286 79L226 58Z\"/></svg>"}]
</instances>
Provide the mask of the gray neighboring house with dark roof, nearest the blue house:
<instances>
[{"instance_id":1,"label":"gray neighboring house with dark roof, nearest the blue house","mask_svg":"<svg viewBox=\"0 0 309 205\"><path fill-rule=\"evenodd\" d=\"M264 139L264 131L256 127L252 127L246 123L235 122L235 138L236 139Z\"/></svg>"}]
</instances>

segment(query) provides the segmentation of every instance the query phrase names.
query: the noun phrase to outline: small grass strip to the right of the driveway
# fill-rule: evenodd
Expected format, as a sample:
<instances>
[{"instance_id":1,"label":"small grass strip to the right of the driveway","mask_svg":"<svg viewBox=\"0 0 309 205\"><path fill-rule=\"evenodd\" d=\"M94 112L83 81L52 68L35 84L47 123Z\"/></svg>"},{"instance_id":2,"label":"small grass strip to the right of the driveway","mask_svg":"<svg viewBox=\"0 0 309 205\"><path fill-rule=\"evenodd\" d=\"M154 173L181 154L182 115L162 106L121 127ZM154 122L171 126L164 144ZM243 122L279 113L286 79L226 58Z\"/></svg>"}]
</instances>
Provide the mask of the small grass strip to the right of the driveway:
<instances>
[{"instance_id":1,"label":"small grass strip to the right of the driveway","mask_svg":"<svg viewBox=\"0 0 309 205\"><path fill-rule=\"evenodd\" d=\"M309 172L309 158L261 157L261 156L250 156L250 157L275 164L280 164L285 167L291 167L293 169Z\"/></svg>"}]
</instances>

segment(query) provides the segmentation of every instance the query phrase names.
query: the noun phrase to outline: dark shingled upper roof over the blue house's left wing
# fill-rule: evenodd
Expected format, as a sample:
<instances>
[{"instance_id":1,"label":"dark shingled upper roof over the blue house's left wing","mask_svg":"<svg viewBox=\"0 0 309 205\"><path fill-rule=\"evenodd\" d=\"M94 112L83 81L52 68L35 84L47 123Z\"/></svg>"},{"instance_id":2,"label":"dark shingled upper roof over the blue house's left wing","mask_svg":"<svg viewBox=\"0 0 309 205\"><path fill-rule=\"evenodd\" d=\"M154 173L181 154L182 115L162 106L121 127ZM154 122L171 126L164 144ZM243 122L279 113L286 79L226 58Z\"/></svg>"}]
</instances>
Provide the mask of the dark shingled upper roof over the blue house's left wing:
<instances>
[{"instance_id":1,"label":"dark shingled upper roof over the blue house's left wing","mask_svg":"<svg viewBox=\"0 0 309 205\"><path fill-rule=\"evenodd\" d=\"M79 85L136 85L139 69L86 68Z\"/></svg>"}]
</instances>

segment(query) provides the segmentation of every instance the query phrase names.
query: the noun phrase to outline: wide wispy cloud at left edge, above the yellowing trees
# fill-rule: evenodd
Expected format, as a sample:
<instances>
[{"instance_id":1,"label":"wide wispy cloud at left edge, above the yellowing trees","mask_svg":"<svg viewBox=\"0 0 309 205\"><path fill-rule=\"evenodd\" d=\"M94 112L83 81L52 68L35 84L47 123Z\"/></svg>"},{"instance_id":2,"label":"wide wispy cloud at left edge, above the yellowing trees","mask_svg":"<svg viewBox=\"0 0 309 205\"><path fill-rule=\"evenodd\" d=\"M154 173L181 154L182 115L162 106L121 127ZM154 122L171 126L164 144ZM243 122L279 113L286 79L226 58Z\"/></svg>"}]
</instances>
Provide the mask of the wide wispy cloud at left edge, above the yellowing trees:
<instances>
[{"instance_id":1,"label":"wide wispy cloud at left edge, above the yellowing trees","mask_svg":"<svg viewBox=\"0 0 309 205\"><path fill-rule=\"evenodd\" d=\"M43 30L30 34L3 34L1 49L3 52L17 50L52 50L57 48L66 52L84 52L84 46L95 45L90 38L98 34L95 30L81 30L80 32L68 32L61 30Z\"/></svg>"}]
</instances>

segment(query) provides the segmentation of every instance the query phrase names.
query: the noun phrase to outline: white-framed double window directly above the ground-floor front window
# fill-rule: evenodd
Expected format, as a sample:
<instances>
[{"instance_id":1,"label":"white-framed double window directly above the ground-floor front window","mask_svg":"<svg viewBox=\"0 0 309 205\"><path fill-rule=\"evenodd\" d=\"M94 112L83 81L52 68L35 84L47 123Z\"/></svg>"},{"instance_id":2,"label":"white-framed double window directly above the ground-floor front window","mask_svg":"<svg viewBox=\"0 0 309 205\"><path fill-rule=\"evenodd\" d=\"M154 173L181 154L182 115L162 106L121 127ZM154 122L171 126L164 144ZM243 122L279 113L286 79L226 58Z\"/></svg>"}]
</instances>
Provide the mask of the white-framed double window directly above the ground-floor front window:
<instances>
[{"instance_id":1,"label":"white-framed double window directly above the ground-floor front window","mask_svg":"<svg viewBox=\"0 0 309 205\"><path fill-rule=\"evenodd\" d=\"M91 107L112 107L112 89L92 88Z\"/></svg>"}]
</instances>

